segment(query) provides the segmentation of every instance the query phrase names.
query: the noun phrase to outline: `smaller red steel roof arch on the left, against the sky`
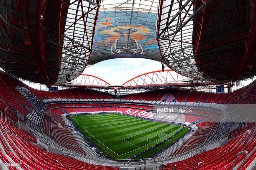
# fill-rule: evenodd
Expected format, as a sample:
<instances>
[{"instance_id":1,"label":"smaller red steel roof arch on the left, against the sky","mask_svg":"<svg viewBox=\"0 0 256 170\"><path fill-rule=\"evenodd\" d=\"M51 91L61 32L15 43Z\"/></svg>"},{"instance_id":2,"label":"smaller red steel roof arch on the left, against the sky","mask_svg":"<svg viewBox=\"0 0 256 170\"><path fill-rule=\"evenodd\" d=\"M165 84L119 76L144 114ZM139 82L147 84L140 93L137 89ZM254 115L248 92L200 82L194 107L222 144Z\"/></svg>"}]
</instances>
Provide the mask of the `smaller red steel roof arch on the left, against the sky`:
<instances>
[{"instance_id":1,"label":"smaller red steel roof arch on the left, against the sky","mask_svg":"<svg viewBox=\"0 0 256 170\"><path fill-rule=\"evenodd\" d=\"M73 83L80 85L90 85L90 86L107 86L110 85L105 80L98 78L94 75L81 74L76 79L72 80Z\"/></svg>"}]
</instances>

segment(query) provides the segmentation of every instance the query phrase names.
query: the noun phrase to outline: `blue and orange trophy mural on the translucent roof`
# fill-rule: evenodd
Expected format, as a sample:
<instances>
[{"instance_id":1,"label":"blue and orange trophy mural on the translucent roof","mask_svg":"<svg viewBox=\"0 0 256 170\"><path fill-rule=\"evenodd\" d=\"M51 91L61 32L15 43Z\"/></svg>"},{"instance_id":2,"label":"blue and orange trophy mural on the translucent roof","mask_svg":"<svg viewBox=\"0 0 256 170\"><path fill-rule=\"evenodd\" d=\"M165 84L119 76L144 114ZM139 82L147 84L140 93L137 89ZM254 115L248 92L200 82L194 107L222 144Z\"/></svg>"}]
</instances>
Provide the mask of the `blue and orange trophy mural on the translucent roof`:
<instances>
[{"instance_id":1,"label":"blue and orange trophy mural on the translucent roof","mask_svg":"<svg viewBox=\"0 0 256 170\"><path fill-rule=\"evenodd\" d=\"M90 61L121 57L159 60L156 18L156 14L134 11L99 11Z\"/></svg>"}]
</instances>

